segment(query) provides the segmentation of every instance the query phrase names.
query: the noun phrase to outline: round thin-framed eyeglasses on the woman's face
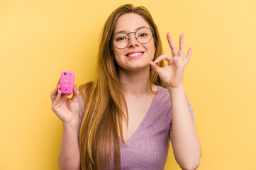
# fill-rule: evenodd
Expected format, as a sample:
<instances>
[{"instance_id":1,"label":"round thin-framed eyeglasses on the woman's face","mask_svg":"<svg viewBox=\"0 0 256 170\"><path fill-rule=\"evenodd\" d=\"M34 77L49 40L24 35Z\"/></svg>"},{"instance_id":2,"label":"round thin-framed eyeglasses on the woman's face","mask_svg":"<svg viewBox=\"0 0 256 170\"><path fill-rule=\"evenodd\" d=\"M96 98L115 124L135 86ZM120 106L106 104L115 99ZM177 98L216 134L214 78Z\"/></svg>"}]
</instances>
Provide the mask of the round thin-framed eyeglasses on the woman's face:
<instances>
[{"instance_id":1,"label":"round thin-framed eyeglasses on the woman's face","mask_svg":"<svg viewBox=\"0 0 256 170\"><path fill-rule=\"evenodd\" d=\"M130 33L135 33L136 40L141 44L147 44L152 39L152 32L153 30L150 28L140 28L136 32ZM130 33L118 33L113 35L113 45L120 50L126 48L130 42L130 38L128 36Z\"/></svg>"}]
</instances>

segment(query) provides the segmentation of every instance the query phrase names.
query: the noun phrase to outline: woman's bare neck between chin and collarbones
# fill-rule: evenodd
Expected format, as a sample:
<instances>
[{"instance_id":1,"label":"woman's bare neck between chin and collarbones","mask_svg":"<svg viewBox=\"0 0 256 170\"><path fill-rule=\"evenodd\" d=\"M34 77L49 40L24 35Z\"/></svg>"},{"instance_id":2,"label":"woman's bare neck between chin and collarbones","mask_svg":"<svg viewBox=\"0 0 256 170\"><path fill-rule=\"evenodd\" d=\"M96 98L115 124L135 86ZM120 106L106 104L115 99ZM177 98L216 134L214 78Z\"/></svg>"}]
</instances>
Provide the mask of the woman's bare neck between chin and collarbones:
<instances>
[{"instance_id":1,"label":"woman's bare neck between chin and collarbones","mask_svg":"<svg viewBox=\"0 0 256 170\"><path fill-rule=\"evenodd\" d=\"M119 79L121 81L121 89L125 96L136 97L150 93L150 67L136 72L119 68Z\"/></svg>"}]
</instances>

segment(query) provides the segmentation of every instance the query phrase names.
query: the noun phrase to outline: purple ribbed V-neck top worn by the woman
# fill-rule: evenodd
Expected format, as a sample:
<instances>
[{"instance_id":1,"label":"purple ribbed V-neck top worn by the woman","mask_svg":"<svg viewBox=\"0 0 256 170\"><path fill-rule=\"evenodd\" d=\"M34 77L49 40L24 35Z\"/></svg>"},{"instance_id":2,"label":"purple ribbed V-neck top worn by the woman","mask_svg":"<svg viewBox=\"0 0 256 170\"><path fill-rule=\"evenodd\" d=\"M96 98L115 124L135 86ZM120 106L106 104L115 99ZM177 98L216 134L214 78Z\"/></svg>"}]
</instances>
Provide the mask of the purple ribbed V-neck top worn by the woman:
<instances>
[{"instance_id":1,"label":"purple ribbed V-neck top worn by the woman","mask_svg":"<svg viewBox=\"0 0 256 170\"><path fill-rule=\"evenodd\" d=\"M194 111L188 98L187 103L194 121ZM82 97L79 96L79 130L83 113ZM121 169L164 170L169 150L170 130L172 130L172 110L169 91L158 86L148 113L133 136L126 145L120 139ZM114 169L113 160L110 167Z\"/></svg>"}]
</instances>

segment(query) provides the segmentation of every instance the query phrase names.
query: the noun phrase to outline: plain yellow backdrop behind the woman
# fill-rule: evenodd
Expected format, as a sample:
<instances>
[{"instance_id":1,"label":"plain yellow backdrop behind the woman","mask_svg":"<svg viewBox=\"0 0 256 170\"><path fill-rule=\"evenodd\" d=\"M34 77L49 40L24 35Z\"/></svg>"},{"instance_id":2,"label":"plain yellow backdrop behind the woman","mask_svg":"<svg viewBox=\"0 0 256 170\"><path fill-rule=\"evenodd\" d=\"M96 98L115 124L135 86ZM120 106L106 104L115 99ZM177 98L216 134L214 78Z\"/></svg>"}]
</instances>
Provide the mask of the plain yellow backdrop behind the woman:
<instances>
[{"instance_id":1,"label":"plain yellow backdrop behind the woman","mask_svg":"<svg viewBox=\"0 0 256 170\"><path fill-rule=\"evenodd\" d=\"M94 78L99 33L126 3L149 9L170 53L186 51L185 91L201 141L199 169L256 169L256 1L0 1L0 169L57 169L62 123L50 92L60 73ZM172 147L165 170L180 169Z\"/></svg>"}]
</instances>

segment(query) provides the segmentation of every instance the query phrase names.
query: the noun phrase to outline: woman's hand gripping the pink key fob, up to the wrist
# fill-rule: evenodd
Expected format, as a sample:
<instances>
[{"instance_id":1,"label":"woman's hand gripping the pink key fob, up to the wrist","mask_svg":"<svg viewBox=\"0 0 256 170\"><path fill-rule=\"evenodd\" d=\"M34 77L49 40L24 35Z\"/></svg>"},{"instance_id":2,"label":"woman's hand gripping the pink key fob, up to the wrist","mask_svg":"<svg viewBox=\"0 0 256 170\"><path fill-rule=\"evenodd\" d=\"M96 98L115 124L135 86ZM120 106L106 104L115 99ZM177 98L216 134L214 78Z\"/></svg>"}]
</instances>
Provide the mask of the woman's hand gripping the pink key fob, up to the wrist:
<instances>
[{"instance_id":1,"label":"woman's hand gripping the pink key fob, up to the wrist","mask_svg":"<svg viewBox=\"0 0 256 170\"><path fill-rule=\"evenodd\" d=\"M62 120L64 125L77 125L79 120L79 91L74 84L72 98L62 95L60 91L60 79L55 89L50 94L52 99L52 111Z\"/></svg>"}]
</instances>

